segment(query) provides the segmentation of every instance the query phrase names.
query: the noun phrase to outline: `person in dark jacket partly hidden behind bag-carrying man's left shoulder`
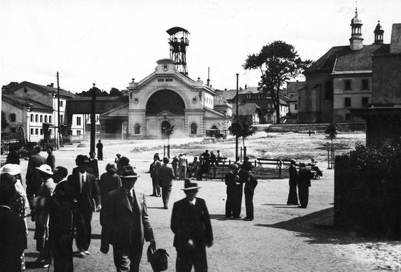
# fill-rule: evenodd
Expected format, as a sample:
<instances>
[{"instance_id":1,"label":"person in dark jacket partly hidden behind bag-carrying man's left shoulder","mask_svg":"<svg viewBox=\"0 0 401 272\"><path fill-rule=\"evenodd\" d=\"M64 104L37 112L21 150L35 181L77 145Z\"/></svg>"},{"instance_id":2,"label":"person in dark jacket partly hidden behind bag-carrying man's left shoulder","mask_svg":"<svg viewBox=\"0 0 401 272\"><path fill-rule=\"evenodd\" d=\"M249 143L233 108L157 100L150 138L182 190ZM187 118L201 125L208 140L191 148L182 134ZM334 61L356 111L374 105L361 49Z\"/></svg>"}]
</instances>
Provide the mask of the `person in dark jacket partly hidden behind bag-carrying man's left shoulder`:
<instances>
[{"instance_id":1,"label":"person in dark jacket partly hidden behind bag-carrying man's left shoulder","mask_svg":"<svg viewBox=\"0 0 401 272\"><path fill-rule=\"evenodd\" d=\"M116 164L110 162L106 165L106 173L102 173L99 181L100 201L102 206L106 203L109 192L119 187L121 187L121 178L117 175ZM102 210L100 210L100 215L102 215Z\"/></svg>"}]
</instances>

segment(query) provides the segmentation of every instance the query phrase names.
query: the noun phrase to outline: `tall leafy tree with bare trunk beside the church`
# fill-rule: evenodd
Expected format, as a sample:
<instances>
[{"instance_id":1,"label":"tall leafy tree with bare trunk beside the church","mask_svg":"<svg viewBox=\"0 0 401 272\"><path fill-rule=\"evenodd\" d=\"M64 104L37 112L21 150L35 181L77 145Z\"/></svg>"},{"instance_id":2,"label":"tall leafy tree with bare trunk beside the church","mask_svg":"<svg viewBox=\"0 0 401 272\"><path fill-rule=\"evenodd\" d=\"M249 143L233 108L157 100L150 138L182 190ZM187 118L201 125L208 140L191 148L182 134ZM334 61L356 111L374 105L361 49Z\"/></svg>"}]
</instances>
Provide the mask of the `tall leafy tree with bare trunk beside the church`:
<instances>
[{"instance_id":1,"label":"tall leafy tree with bare trunk beside the church","mask_svg":"<svg viewBox=\"0 0 401 272\"><path fill-rule=\"evenodd\" d=\"M261 71L259 87L262 92L271 96L278 124L280 124L280 87L311 64L311 60L302 61L294 46L283 41L264 45L259 53L248 55L245 59L243 64L245 70Z\"/></svg>"}]
</instances>

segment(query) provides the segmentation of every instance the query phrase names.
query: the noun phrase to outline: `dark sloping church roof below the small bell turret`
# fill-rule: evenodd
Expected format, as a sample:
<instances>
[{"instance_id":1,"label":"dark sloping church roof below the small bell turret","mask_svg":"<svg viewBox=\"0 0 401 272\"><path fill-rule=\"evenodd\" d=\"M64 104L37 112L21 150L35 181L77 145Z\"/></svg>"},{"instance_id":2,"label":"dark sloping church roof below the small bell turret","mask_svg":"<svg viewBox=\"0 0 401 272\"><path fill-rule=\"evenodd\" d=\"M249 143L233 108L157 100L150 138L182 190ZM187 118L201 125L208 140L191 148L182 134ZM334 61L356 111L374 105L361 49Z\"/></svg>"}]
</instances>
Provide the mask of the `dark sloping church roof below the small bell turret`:
<instances>
[{"instance_id":1,"label":"dark sloping church roof below the small bell turret","mask_svg":"<svg viewBox=\"0 0 401 272\"><path fill-rule=\"evenodd\" d=\"M334 46L306 69L304 75L372 72L372 55L389 52L389 50L388 44L364 45L360 50L351 50L349 45Z\"/></svg>"}]
</instances>

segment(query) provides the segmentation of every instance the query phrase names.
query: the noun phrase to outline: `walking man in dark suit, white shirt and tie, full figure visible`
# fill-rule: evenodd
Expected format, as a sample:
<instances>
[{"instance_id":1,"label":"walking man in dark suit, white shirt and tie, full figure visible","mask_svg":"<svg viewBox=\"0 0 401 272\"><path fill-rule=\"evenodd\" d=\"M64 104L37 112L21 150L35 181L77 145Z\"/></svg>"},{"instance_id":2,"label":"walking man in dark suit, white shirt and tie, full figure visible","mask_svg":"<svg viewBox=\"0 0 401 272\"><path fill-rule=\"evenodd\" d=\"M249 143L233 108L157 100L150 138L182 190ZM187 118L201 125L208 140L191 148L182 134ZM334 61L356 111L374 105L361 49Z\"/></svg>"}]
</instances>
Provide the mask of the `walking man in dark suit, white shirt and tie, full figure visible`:
<instances>
[{"instance_id":1,"label":"walking man in dark suit, white shirt and tie, full figure visible","mask_svg":"<svg viewBox=\"0 0 401 272\"><path fill-rule=\"evenodd\" d=\"M85 257L90 255L88 251L90 245L90 234L92 227L92 213L98 212L102 208L100 205L100 189L95 176L88 173L88 157L84 155L76 156L76 168L72 175L68 176L67 182L73 189L75 202L72 206L74 214L74 226L76 228L76 246L79 255Z\"/></svg>"}]
</instances>

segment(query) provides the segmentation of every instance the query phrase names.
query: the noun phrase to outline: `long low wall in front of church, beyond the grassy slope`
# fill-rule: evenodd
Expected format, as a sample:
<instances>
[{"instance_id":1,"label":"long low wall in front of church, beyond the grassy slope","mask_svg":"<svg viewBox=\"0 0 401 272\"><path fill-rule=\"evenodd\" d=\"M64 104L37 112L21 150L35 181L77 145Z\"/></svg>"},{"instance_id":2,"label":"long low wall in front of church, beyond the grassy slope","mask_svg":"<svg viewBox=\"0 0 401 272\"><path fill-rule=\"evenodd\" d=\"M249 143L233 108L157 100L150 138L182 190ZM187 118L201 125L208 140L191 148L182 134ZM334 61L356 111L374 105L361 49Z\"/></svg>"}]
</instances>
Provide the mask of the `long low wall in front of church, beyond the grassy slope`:
<instances>
[{"instance_id":1,"label":"long low wall in front of church, beyond the grassy slope","mask_svg":"<svg viewBox=\"0 0 401 272\"><path fill-rule=\"evenodd\" d=\"M307 133L308 131L322 132L324 133L329 124L271 124L269 127L257 126L259 131L269 132L296 132L296 133ZM338 131L365 131L366 123L338 123Z\"/></svg>"}]
</instances>

